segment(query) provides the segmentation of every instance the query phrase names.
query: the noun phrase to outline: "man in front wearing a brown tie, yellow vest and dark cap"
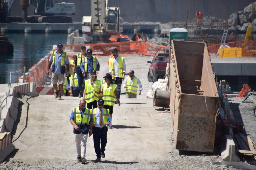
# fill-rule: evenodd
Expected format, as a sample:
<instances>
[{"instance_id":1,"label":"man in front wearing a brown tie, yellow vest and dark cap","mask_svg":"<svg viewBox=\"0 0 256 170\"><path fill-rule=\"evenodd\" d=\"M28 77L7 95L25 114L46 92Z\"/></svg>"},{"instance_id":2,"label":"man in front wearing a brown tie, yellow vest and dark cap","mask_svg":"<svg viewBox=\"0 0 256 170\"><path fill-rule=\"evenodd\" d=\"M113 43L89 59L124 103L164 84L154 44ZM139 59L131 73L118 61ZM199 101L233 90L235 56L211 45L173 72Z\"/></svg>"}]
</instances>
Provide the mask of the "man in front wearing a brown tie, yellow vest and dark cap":
<instances>
[{"instance_id":1,"label":"man in front wearing a brown tie, yellow vest and dark cap","mask_svg":"<svg viewBox=\"0 0 256 170\"><path fill-rule=\"evenodd\" d=\"M109 114L109 109L103 108L104 100L99 99L97 103L97 108L92 109L92 119L93 119L93 143L94 150L97 156L95 161L99 162L101 157L105 158L105 147L107 144L107 132L111 124L111 116ZM90 126L91 127L91 126ZM101 143L101 147L100 147Z\"/></svg>"}]
</instances>

